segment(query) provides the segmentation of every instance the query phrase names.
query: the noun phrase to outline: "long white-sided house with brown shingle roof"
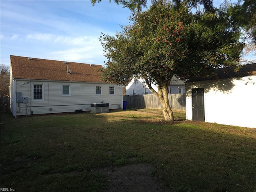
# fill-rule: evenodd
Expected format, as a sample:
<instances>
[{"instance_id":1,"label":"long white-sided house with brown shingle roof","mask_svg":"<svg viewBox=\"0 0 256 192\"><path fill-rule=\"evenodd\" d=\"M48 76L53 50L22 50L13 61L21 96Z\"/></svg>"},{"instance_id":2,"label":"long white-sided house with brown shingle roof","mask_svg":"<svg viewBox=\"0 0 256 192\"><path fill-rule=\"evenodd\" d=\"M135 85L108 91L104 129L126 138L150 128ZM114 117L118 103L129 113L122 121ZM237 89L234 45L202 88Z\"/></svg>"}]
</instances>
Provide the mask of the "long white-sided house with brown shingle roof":
<instances>
[{"instance_id":1,"label":"long white-sided house with brown shingle roof","mask_svg":"<svg viewBox=\"0 0 256 192\"><path fill-rule=\"evenodd\" d=\"M16 116L123 107L122 86L102 82L101 65L10 56L11 112ZM107 105L106 105L107 106Z\"/></svg>"}]
</instances>

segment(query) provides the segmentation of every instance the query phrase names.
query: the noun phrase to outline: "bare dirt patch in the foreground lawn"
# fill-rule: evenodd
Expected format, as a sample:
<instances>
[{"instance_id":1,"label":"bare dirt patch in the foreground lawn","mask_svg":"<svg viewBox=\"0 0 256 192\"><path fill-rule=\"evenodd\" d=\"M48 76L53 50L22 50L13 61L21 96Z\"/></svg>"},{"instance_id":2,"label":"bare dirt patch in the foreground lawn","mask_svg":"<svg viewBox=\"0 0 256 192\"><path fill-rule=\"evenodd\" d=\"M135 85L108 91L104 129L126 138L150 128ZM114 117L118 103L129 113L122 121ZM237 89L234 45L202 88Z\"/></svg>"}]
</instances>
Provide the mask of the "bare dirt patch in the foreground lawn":
<instances>
[{"instance_id":1,"label":"bare dirt patch in the foreground lawn","mask_svg":"<svg viewBox=\"0 0 256 192\"><path fill-rule=\"evenodd\" d=\"M164 184L154 176L154 166L140 163L122 167L108 167L92 170L106 176L108 186L103 192L168 192Z\"/></svg>"}]
</instances>

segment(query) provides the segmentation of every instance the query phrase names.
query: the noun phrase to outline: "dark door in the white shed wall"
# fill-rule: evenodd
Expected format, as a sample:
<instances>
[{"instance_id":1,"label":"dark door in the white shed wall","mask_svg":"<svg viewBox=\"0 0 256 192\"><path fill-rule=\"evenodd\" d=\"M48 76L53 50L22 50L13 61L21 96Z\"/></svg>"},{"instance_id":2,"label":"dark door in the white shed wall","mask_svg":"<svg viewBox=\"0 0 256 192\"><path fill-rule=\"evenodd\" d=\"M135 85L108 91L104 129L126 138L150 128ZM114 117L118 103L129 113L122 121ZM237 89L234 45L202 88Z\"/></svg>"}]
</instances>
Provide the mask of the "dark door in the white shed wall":
<instances>
[{"instance_id":1,"label":"dark door in the white shed wall","mask_svg":"<svg viewBox=\"0 0 256 192\"><path fill-rule=\"evenodd\" d=\"M192 89L193 121L204 121L204 88Z\"/></svg>"}]
</instances>

